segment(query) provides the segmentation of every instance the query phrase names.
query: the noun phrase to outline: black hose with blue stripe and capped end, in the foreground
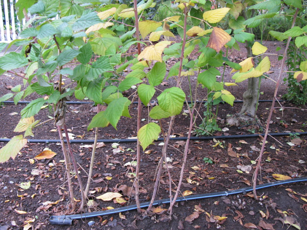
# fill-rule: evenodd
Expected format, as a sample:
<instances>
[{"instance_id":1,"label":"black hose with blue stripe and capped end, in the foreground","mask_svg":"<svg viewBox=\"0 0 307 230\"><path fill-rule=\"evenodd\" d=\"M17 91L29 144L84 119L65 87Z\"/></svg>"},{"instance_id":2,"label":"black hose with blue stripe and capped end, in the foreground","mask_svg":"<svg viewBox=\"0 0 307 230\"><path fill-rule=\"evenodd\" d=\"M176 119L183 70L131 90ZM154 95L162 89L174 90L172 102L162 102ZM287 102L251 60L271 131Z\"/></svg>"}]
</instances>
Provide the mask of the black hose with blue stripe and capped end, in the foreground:
<instances>
[{"instance_id":1,"label":"black hose with blue stripe and capped end, in the foreground","mask_svg":"<svg viewBox=\"0 0 307 230\"><path fill-rule=\"evenodd\" d=\"M283 181L274 181L262 185L257 185L256 190L268 188L272 186L282 185L282 184L288 184L293 182L304 182L307 181L307 177L303 178L294 178L289 180L283 180ZM186 197L177 197L176 201L188 201L188 200L196 200L196 199L204 199L204 198L212 198L212 197L221 197L221 196L228 196L228 195L235 195L235 194L246 194L247 192L253 191L253 187L246 187L231 191L224 191L224 192L216 192L216 193L207 193L207 194L199 194L199 195L192 195L192 196L186 196ZM169 204L170 199L162 199L162 200L156 200L153 201L153 205L162 205L162 204ZM141 208L148 207L150 202L142 203L140 204ZM75 215L62 215L62 216L51 216L49 218L50 224L72 224L73 220L77 219L83 219L83 218L91 218L91 217L98 217L98 216L104 216L104 215L110 215L115 214L119 212L125 212L130 210L137 209L136 205L129 205L126 207L121 207L117 209L110 209L106 211L98 211L93 213L82 213L82 214L75 214Z\"/></svg>"}]
</instances>

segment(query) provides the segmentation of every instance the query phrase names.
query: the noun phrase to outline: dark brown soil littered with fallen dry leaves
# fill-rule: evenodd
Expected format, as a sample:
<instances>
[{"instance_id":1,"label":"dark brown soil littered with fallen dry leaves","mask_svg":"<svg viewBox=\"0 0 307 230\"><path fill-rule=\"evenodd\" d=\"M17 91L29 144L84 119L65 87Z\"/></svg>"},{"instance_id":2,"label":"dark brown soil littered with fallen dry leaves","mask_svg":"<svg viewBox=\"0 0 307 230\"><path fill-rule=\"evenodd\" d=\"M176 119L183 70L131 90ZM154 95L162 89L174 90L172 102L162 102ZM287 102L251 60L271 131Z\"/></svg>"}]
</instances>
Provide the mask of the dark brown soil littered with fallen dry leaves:
<instances>
[{"instance_id":1,"label":"dark brown soil littered with fallen dry leaves","mask_svg":"<svg viewBox=\"0 0 307 230\"><path fill-rule=\"evenodd\" d=\"M279 42L264 42L269 49L267 53L276 53L276 47L282 46ZM283 48L277 53L282 54ZM232 51L230 53L232 61L240 62L246 58L245 49L241 47L241 52ZM270 57L271 71L270 78L277 80L280 62L277 60L277 56ZM171 65L171 61L168 63ZM22 69L19 70L23 71ZM231 69L226 70L225 81L232 82L231 75L229 74ZM194 82L196 78L191 78ZM0 76L0 96L9 93L10 90L7 86L15 86L22 84L22 81L14 77L13 75ZM186 79L185 79L186 80ZM68 80L67 80L68 81ZM167 80L169 86L175 84L171 79ZM187 83L187 80L186 80ZM242 94L246 88L246 82L238 84L239 86L230 86L231 91L236 99L242 99ZM161 90L169 86L159 86ZM188 83L183 84L183 90L188 93ZM260 99L272 99L274 94L275 83L269 79L263 80L261 85L261 91L264 92L260 96ZM286 93L286 86L281 85L278 97ZM206 92L199 92L198 98L204 98ZM33 95L26 98L31 100L38 97ZM71 98L75 100L75 98ZM294 109L294 105L288 102L282 102L284 107L291 107L280 111L275 110L272 117L272 124L270 124L270 132L298 132L306 131L307 119L305 111L301 109ZM226 118L228 114L234 114L240 111L242 104L236 103L233 107L230 105L220 105L218 111L218 117L220 117L220 128L227 127L229 130L225 132L218 132L215 135L236 135L236 134L250 134L251 132L261 133L262 131L255 129L254 127L245 127L238 129L236 127L230 127L226 125ZM260 103L257 116L262 122L266 124L266 119L269 113L270 103ZM277 105L276 105L277 106ZM5 104L0 109L0 116L2 121L2 129L0 137L12 138L17 133L12 132L20 119L20 111L24 108L23 104ZM70 132L74 135L82 136L75 137L75 140L93 139L94 132L87 132L87 126L89 125L94 113L90 112L91 105L69 105L71 111L67 115L66 123ZM305 108L305 107L303 107ZM10 115L10 113L17 112L17 115ZM204 107L200 107L200 114L203 114ZM52 111L49 111L48 107L42 109L35 117L36 120L45 121L48 120L48 116L52 116ZM132 118L122 118L119 121L117 130L109 126L107 128L99 129L99 139L111 139L120 138L126 139L136 135L136 105L132 105L130 109L130 115ZM142 109L142 117L146 120L142 121L142 125L148 122L148 110L146 107ZM167 130L169 119L163 120L163 128ZM200 123L200 120L196 122L196 125ZM173 126L173 134L176 136L187 136L189 119L184 115L176 117L175 125ZM33 139L59 139L57 132L51 132L52 129L56 129L52 122L46 123L41 127L34 130L35 136ZM194 133L195 134L195 133ZM275 139L268 137L268 143L266 144L266 150L262 158L261 175L258 176L258 184L273 182L275 179L272 174L282 174L290 176L292 178L306 177L306 137L299 136L302 139L300 144L290 146L288 143L295 138L295 136L280 136ZM247 144L243 143L245 141ZM147 150L152 150L150 154L141 154L141 181L143 193L140 199L147 201L151 198L153 193L154 174L157 168L157 162L161 155L162 146L158 145L160 142L155 142L154 145L150 145ZM240 139L225 139L220 140L220 146L213 147L216 143L213 140L206 141L194 141L190 144L191 153L188 155L187 163L185 166L184 180L181 187L181 192L189 190L194 194L205 194L212 192L228 191L243 187L249 187L252 181L254 173L254 165L251 160L255 161L258 157L257 148L261 148L261 138L240 138ZM5 143L0 143L2 147ZM172 168L170 172L172 174L172 181L178 184L181 170L182 152L184 150L184 143L176 143L171 141L170 144L175 147L169 147L167 157L171 160L168 162ZM73 152L77 162L80 164L78 170L83 179L85 185L87 180L87 174L83 171L88 171L91 148L82 148L84 144L72 144ZM179 145L179 146L178 146ZM182 146L183 145L183 146ZM135 160L136 143L120 143L123 152L115 153L111 147L111 143L106 143L106 146L99 148L96 151L93 180L100 182L92 182L90 190L92 191L91 198L104 194L105 192L118 192L117 188L121 185L133 186L134 179L127 177L127 172L134 171L134 168L124 166L125 163ZM30 163L30 159L33 159L44 148L50 148L56 152L57 155L51 160L35 160L33 164ZM235 151L238 155L234 157L232 151ZM131 149L131 150L129 150ZM119 217L119 214L104 216L102 218L91 218L87 220L74 221L72 226L54 226L50 225L48 219L51 215L63 215L69 209L69 197L67 192L67 185L65 184L65 171L63 154L61 153L61 146L58 144L28 144L17 155L15 160L10 159L9 162L0 165L0 191L2 191L2 198L0 199L0 229L23 229L26 224L26 220L35 218L34 222L30 222L33 229L247 229L244 224L253 223L258 226L259 229L287 229L289 224L282 224L280 219L283 217L291 217L292 220L297 220L300 224L300 228L307 229L306 211L307 203L302 198L307 199L307 187L306 182L292 183L282 186L275 186L258 191L258 195L261 195L261 200L255 199L247 195L239 194L235 196L200 199L195 201L182 201L179 202L173 209L172 220L166 219L167 213L151 213L150 216L144 216L137 214L136 211L122 212L126 219ZM238 156L238 157L237 157ZM208 157L212 160L212 163L204 162L203 158ZM53 165L50 165L52 163ZM227 165L227 166L226 166ZM197 166L196 169L194 166ZM251 166L249 173L239 172L237 166ZM194 168L191 168L194 167ZM38 175L33 173L39 172ZM35 174L35 173L34 173ZM105 177L111 176L110 180ZM192 184L189 180L192 180ZM18 185L21 182L31 182L31 186L27 190L22 190ZM75 198L80 199L78 182L74 178L73 186L75 192ZM96 188L96 189L95 189ZM165 170L161 176L161 183L157 194L157 199L164 199L169 197L169 177ZM175 188L173 184L173 189ZM287 190L286 190L287 189ZM291 189L291 190L289 190ZM99 190L96 191L96 190ZM294 194L295 192L296 194ZM33 196L33 194L36 194ZM33 196L33 197L32 197ZM127 196L123 196L127 197ZM133 197L130 199L130 204L134 204ZM60 201L59 201L60 200ZM127 198L128 200L128 198ZM46 201L56 202L57 204L47 205L43 204ZM146 202L144 201L144 202ZM113 201L101 201L95 199L97 203L96 208L88 208L86 212L93 212L95 210L102 210L108 206L117 208L121 207L119 204ZM205 212L214 216L226 216L227 219L221 221L215 221L209 219L205 212L200 212L199 217L195 220L188 222L185 218L195 212L195 205L201 206ZM125 204L127 205L127 203ZM162 208L168 208L166 205ZM27 212L26 214L18 214L16 210ZM260 211L266 216L261 216ZM282 213L282 212L287 212ZM285 216L286 215L286 216ZM207 216L207 218L206 218ZM276 219L279 218L279 219ZM107 220L107 221L104 221ZM95 221L92 226L88 225L89 221ZM270 227L263 223L272 224ZM107 222L107 223L105 223ZM219 224L219 225L217 225ZM7 228L5 227L7 226ZM29 225L27 225L29 226ZM219 227L220 226L220 227ZM289 229L296 229L290 226Z\"/></svg>"}]
</instances>

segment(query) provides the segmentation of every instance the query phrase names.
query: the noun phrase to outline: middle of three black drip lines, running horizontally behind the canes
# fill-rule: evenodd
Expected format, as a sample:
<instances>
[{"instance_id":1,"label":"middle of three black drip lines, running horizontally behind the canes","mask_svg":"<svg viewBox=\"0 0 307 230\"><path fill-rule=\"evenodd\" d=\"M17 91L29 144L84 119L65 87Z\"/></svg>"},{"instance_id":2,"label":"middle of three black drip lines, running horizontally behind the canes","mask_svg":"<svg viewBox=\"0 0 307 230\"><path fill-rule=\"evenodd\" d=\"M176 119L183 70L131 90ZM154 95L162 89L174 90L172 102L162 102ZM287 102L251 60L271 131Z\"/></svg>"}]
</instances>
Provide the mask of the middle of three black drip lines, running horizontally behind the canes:
<instances>
[{"instance_id":1,"label":"middle of three black drip lines, running horizontally behind the canes","mask_svg":"<svg viewBox=\"0 0 307 230\"><path fill-rule=\"evenodd\" d=\"M277 132L277 133L269 133L270 136L289 136L290 134L300 134L300 135L307 135L307 132ZM213 139L236 139L236 138L252 138L258 136L264 136L263 133L261 134L245 134L245 135L228 135L228 136L192 136L190 140L213 140ZM9 142L12 139L9 138L0 138L0 142ZM187 140L186 136L183 137L171 137L169 140ZM158 138L155 141L164 141L163 138ZM60 140L41 140L41 139L28 139L28 143L60 143ZM64 140L65 143L66 140ZM86 144L86 143L94 143L94 140L70 140L70 143L79 143L79 144ZM104 142L104 143L126 143L126 142L137 142L137 139L100 139L97 142Z\"/></svg>"}]
</instances>

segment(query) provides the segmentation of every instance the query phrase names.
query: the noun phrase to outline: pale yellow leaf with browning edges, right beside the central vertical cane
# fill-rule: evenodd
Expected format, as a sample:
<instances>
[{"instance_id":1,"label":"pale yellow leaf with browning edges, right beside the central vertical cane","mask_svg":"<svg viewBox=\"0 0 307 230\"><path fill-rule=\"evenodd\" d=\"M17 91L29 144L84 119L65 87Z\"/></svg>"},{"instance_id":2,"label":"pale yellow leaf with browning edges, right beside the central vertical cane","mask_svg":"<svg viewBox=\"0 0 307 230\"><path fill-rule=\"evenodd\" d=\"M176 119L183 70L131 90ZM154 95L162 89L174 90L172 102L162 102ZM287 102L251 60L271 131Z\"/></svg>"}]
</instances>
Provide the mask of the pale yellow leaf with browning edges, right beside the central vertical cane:
<instances>
[{"instance_id":1,"label":"pale yellow leaf with browning edges, right beside the central vertical cane","mask_svg":"<svg viewBox=\"0 0 307 230\"><path fill-rule=\"evenodd\" d=\"M164 51L165 47L170 45L171 43L172 43L171 41L161 41L155 45L146 47L138 56L138 60L143 58L144 60L147 61L156 60L162 62L161 58L162 52Z\"/></svg>"}]
</instances>

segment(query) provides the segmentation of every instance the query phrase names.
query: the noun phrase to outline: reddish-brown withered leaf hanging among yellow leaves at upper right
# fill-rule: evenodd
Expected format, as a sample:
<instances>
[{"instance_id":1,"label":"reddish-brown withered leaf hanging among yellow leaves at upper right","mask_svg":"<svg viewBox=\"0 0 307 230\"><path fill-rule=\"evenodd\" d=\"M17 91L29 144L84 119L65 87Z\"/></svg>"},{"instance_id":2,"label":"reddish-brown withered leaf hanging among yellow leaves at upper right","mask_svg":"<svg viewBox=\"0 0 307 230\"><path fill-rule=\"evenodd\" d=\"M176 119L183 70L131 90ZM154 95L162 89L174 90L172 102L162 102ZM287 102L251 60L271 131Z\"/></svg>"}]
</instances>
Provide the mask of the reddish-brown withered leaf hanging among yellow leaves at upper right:
<instances>
[{"instance_id":1,"label":"reddish-brown withered leaf hanging among yellow leaves at upper right","mask_svg":"<svg viewBox=\"0 0 307 230\"><path fill-rule=\"evenodd\" d=\"M223 29L218 27L213 27L213 31L210 35L207 47L215 49L216 52L220 52L222 47L230 40L231 36L228 33L226 33Z\"/></svg>"}]
</instances>

